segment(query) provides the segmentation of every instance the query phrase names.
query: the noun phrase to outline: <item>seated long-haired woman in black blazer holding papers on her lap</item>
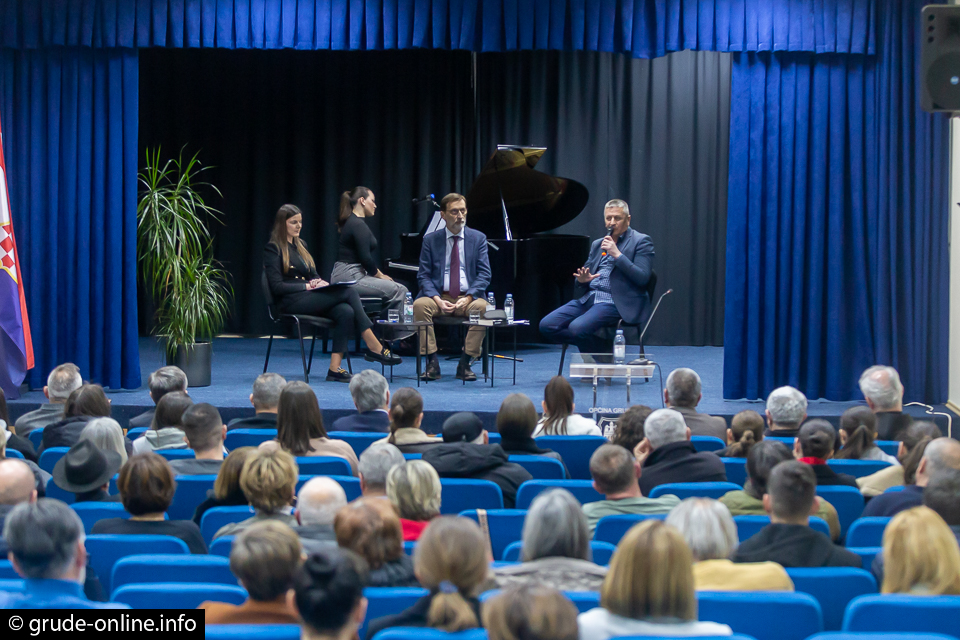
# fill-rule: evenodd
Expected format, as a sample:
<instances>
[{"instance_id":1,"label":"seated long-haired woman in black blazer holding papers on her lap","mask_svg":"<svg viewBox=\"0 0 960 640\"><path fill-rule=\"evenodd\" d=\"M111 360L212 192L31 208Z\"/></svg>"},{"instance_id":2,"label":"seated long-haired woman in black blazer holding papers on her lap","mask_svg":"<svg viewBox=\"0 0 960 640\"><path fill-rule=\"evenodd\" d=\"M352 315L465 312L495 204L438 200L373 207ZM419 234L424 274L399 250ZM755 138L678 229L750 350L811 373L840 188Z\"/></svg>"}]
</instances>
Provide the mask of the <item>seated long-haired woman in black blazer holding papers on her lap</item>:
<instances>
[{"instance_id":1,"label":"seated long-haired woman in black blazer holding papers on her lap","mask_svg":"<svg viewBox=\"0 0 960 640\"><path fill-rule=\"evenodd\" d=\"M263 268L270 291L276 297L281 311L333 320L333 353L330 354L327 380L350 381L350 374L340 363L354 330L367 345L369 351L366 360L387 365L399 364L400 358L390 353L373 335L373 323L364 313L360 296L353 288L321 289L329 283L317 274L313 256L300 239L302 227L303 214L300 209L292 204L280 207L273 222L270 242L263 251Z\"/></svg>"}]
</instances>

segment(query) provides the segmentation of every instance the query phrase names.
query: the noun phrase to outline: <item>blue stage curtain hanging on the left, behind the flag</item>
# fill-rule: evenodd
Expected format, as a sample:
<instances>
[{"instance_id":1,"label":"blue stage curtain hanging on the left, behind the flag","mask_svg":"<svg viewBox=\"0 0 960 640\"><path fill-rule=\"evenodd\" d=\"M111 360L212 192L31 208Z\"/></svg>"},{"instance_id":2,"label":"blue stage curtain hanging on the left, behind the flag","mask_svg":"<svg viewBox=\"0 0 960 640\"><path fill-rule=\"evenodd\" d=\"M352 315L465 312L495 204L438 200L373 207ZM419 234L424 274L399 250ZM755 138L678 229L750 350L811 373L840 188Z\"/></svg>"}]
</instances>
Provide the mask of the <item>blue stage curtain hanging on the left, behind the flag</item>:
<instances>
[{"instance_id":1,"label":"blue stage curtain hanging on the left, behind the flag","mask_svg":"<svg viewBox=\"0 0 960 640\"><path fill-rule=\"evenodd\" d=\"M62 362L104 386L140 386L137 92L135 49L0 49L34 388Z\"/></svg>"}]
</instances>

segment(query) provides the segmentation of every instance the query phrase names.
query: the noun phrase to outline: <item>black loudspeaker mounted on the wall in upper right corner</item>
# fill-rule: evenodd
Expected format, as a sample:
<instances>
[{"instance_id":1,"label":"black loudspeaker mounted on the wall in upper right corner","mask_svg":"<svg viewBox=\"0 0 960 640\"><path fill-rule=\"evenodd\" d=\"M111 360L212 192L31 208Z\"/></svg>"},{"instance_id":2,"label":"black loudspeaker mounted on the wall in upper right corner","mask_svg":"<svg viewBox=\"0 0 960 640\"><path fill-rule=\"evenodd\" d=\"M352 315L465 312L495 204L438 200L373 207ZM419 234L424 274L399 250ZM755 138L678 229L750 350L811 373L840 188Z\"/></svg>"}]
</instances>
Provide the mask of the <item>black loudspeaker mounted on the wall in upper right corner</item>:
<instances>
[{"instance_id":1,"label":"black loudspeaker mounted on the wall in upper right corner","mask_svg":"<svg viewBox=\"0 0 960 640\"><path fill-rule=\"evenodd\" d=\"M920 20L920 106L960 112L960 5L927 5Z\"/></svg>"}]
</instances>

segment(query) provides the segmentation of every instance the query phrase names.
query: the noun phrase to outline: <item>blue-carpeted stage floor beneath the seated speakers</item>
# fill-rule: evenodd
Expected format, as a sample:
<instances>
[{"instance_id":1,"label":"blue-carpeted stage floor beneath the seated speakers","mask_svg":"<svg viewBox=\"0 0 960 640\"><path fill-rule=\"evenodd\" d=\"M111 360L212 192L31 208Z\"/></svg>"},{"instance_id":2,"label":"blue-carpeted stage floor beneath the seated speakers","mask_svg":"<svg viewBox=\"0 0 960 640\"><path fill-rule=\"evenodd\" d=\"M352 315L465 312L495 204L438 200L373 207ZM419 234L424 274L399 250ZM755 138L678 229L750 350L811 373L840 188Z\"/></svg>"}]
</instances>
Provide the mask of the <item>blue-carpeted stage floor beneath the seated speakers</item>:
<instances>
[{"instance_id":1,"label":"blue-carpeted stage floor beneath the seated speakers","mask_svg":"<svg viewBox=\"0 0 960 640\"><path fill-rule=\"evenodd\" d=\"M506 346L504 341L498 341L498 352L507 353L506 350L499 348L501 346ZM197 402L209 402L218 407L224 420L251 414L252 408L249 401L251 385L257 375L263 371L266 349L266 339L218 338L214 342L213 384L209 387L191 388L190 395ZM329 426L336 418L355 409L348 385L324 380L329 356L322 355L319 351L318 344L310 386L317 393L324 421ZM450 414L457 411L473 411L483 419L488 428L495 429L497 409L503 399L511 393L527 394L539 410L540 401L543 400L543 388L557 372L560 348L553 345L520 345L517 355L523 359L523 362L517 363L517 384L515 386L511 384L510 361L498 360L497 377L492 388L489 382L484 384L479 363L473 367L478 374L478 381L464 385L454 378L456 362L441 360L443 377L435 382L420 383L419 391L423 394L426 414L423 421L424 428L431 432L439 431L443 420ZM728 420L730 416L744 409L763 413L763 402L732 401L722 398L723 349L721 347L651 347L649 356L660 365L664 381L667 374L677 367L690 367L700 374L703 381L703 400L697 407L699 411L724 416ZM576 357L576 349L568 350L564 364L565 370L572 357ZM366 362L362 355L354 354L352 361L354 373L367 368L380 370L379 364ZM156 340L141 338L140 368L143 386L136 390L107 390L113 406L113 415L122 425L125 425L130 417L153 405L146 389L146 381L151 371L164 364L164 357ZM416 387L415 366L415 359L406 357L402 364L394 368L391 391L400 387ZM300 350L296 340L274 339L270 371L279 373L287 380L303 379ZM577 412L587 413L593 405L592 386L574 381L573 387L576 393ZM649 382L634 382L631 387L630 404L645 404L659 408L661 399L660 380L656 375ZM10 401L11 421L37 408L44 401L43 392L40 389L25 393L19 400ZM835 421L845 409L855 404L857 403L815 400L810 402L808 413L811 416L833 418ZM597 391L597 406L611 409L613 412L629 406L626 403L624 383L613 381L608 385L601 382ZM917 416L923 413L918 407L908 410ZM936 410L948 411L943 405L938 405ZM939 418L938 423L945 432L946 420Z\"/></svg>"}]
</instances>

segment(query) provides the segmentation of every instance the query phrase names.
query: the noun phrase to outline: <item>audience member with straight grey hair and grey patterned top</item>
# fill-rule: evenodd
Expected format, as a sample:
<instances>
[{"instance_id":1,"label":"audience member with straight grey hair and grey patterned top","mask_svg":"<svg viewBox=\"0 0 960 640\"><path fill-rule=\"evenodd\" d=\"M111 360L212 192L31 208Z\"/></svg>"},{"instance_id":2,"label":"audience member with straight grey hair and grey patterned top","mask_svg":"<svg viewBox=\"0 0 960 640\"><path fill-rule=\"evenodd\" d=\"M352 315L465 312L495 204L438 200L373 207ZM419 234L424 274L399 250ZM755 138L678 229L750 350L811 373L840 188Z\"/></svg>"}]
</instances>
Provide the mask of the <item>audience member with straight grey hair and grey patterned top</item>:
<instances>
[{"instance_id":1,"label":"audience member with straight grey hair and grey patterned top","mask_svg":"<svg viewBox=\"0 0 960 640\"><path fill-rule=\"evenodd\" d=\"M593 562L580 503L565 489L550 489L533 499L523 521L520 559L519 565L496 570L497 584L599 591L607 575L606 567Z\"/></svg>"}]
</instances>

